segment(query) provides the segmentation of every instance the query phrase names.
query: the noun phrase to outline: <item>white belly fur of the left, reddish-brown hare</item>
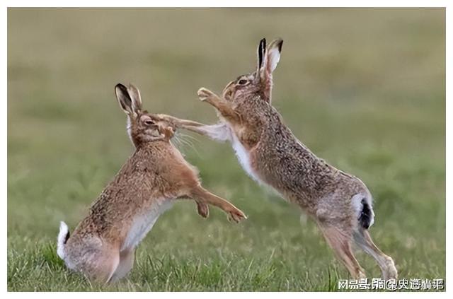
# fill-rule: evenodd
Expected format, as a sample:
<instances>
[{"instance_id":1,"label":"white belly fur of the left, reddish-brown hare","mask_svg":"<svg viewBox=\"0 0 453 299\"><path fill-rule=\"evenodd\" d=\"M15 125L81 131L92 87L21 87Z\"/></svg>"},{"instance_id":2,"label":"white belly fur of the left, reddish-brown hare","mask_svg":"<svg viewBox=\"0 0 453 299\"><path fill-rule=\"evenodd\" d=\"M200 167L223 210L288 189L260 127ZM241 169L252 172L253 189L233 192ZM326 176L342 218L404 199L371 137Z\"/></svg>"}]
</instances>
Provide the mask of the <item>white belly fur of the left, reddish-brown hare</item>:
<instances>
[{"instance_id":1,"label":"white belly fur of the left, reddish-brown hare","mask_svg":"<svg viewBox=\"0 0 453 299\"><path fill-rule=\"evenodd\" d=\"M171 200L166 200L164 202L157 201L154 206L151 206L151 209L147 213L137 215L132 222L125 241L122 243L121 250L134 248L139 245L139 242L142 241L147 233L149 233L149 230L153 228L157 218L170 209L172 205L173 201Z\"/></svg>"}]
</instances>

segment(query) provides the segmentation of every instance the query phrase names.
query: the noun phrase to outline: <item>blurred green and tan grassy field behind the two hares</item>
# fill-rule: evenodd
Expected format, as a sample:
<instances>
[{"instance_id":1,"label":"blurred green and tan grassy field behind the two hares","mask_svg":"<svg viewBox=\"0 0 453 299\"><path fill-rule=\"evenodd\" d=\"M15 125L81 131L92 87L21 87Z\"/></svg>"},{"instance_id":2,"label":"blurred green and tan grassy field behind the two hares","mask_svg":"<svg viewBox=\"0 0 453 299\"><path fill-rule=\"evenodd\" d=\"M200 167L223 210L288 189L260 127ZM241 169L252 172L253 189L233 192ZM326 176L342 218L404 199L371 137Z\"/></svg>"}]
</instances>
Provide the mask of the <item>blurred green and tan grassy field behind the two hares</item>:
<instances>
[{"instance_id":1,"label":"blurred green and tan grassy field behind the two hares","mask_svg":"<svg viewBox=\"0 0 453 299\"><path fill-rule=\"evenodd\" d=\"M402 278L445 279L445 10L13 8L8 291L335 291L348 273L314 223L248 178L229 145L195 135L181 151L247 221L217 209L203 220L180 201L112 286L55 252L59 221L73 230L133 151L116 83L137 85L151 112L215 122L196 90L253 70L260 38L277 36L273 103L286 124L367 184L372 235Z\"/></svg>"}]
</instances>

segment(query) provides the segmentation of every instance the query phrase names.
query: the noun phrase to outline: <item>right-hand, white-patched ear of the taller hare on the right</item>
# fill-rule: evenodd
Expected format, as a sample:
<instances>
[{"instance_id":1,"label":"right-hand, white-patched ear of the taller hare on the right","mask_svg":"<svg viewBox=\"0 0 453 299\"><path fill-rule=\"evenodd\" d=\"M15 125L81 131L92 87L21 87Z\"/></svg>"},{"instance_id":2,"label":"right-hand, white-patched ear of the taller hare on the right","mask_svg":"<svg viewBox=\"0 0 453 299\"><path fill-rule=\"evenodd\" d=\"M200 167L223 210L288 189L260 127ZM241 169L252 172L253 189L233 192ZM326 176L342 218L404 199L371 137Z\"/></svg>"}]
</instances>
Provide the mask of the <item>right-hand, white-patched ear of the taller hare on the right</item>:
<instances>
[{"instance_id":1,"label":"right-hand, white-patched ear of the taller hare on the right","mask_svg":"<svg viewBox=\"0 0 453 299\"><path fill-rule=\"evenodd\" d=\"M272 93L273 78L272 73L277 67L278 61L280 61L280 53L282 52L283 40L278 38L273 40L265 50L263 65L260 68L260 80L263 85L263 94L265 100L269 100Z\"/></svg>"}]
</instances>

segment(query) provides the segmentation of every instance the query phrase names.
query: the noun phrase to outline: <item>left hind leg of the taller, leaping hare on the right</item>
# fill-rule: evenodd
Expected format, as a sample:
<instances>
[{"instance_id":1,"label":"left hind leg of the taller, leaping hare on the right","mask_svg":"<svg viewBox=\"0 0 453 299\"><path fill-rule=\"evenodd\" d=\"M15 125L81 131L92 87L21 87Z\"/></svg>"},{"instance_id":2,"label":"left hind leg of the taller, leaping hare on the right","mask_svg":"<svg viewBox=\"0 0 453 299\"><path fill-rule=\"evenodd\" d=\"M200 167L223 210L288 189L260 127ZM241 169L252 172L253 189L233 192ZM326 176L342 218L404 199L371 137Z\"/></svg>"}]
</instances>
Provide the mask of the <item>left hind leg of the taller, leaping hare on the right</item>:
<instances>
[{"instance_id":1,"label":"left hind leg of the taller, leaping hare on the right","mask_svg":"<svg viewBox=\"0 0 453 299\"><path fill-rule=\"evenodd\" d=\"M351 276L355 279L362 279L367 277L365 271L360 266L357 259L352 253L351 239L352 234L345 232L340 228L333 225L326 225L319 223L319 227L326 238L328 245L330 245L335 252L336 257L346 266Z\"/></svg>"}]
</instances>

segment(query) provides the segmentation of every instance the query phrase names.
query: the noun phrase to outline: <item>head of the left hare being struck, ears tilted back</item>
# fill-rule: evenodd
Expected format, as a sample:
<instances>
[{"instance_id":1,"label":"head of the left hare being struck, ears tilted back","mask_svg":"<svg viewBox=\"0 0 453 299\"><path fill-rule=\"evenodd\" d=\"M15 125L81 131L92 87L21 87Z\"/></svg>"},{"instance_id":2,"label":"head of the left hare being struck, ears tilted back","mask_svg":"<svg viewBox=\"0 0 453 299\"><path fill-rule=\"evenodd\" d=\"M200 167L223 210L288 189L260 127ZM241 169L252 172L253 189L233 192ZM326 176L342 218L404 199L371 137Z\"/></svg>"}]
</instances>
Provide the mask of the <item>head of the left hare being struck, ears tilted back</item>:
<instances>
[{"instance_id":1,"label":"head of the left hare being struck, ears tilted back","mask_svg":"<svg viewBox=\"0 0 453 299\"><path fill-rule=\"evenodd\" d=\"M130 84L128 87L118 83L115 95L120 107L127 115L127 134L134 146L173 137L176 130L171 122L163 117L142 110L142 98L139 90Z\"/></svg>"}]
</instances>

